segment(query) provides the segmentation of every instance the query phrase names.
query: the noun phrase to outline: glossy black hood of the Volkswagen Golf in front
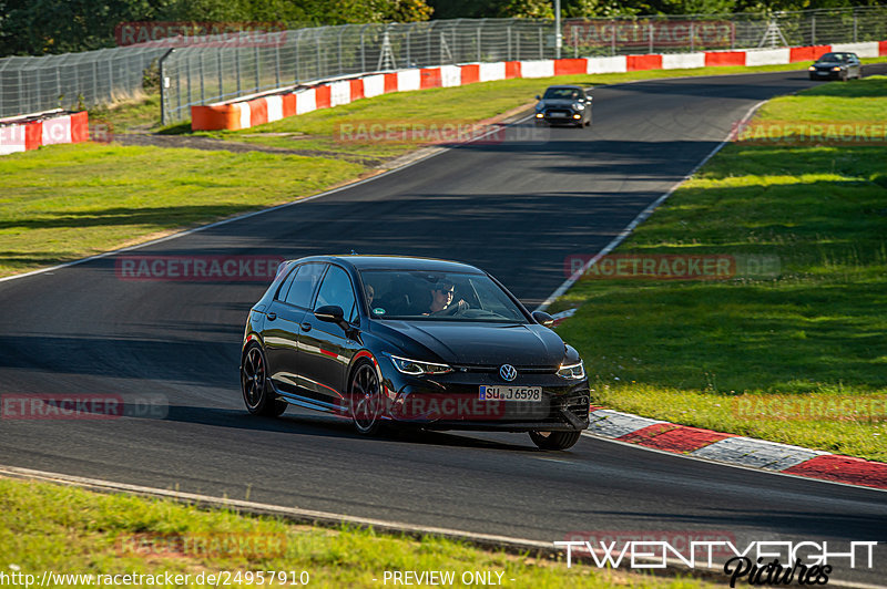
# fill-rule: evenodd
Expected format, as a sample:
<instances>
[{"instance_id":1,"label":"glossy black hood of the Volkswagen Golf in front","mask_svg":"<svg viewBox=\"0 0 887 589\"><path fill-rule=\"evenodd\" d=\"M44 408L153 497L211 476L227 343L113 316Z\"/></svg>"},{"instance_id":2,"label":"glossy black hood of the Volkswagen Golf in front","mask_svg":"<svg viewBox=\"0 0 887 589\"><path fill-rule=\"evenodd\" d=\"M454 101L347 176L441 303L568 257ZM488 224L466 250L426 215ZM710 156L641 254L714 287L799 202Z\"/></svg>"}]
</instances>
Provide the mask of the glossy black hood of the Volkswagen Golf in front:
<instances>
[{"instance_id":1,"label":"glossy black hood of the Volkswagen Golf in front","mask_svg":"<svg viewBox=\"0 0 887 589\"><path fill-rule=\"evenodd\" d=\"M384 331L399 335L394 339L400 340L397 343L405 353L424 348L448 364L557 366L565 350L557 333L534 323L386 321Z\"/></svg>"}]
</instances>

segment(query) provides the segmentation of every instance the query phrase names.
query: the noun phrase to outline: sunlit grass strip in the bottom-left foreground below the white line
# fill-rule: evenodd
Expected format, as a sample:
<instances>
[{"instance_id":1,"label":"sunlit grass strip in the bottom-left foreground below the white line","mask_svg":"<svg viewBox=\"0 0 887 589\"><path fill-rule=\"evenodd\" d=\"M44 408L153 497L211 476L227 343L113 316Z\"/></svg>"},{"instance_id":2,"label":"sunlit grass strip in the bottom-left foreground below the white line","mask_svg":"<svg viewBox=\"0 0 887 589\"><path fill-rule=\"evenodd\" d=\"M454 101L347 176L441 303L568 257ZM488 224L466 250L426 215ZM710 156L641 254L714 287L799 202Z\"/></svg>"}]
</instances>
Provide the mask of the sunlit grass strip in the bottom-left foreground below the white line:
<instances>
[{"instance_id":1,"label":"sunlit grass strip in the bottom-left foreground below the white line","mask_svg":"<svg viewBox=\"0 0 887 589\"><path fill-rule=\"evenodd\" d=\"M154 539L156 546L162 538L167 545L179 538L191 548L147 554L150 540ZM233 547L237 540L246 547L239 554L237 549L200 548ZM415 540L373 530L327 529L225 510L198 510L170 500L11 479L0 479L0 570L37 575L38 582L43 571L188 574L191 587L196 587L194 580L201 572L224 570L307 571L309 586L322 588L379 587L386 570L452 570L457 578L463 571L498 571L503 572L503 583L509 587L540 589L705 587L695 580L666 580L585 566L568 569L563 561L480 550L435 537Z\"/></svg>"}]
</instances>

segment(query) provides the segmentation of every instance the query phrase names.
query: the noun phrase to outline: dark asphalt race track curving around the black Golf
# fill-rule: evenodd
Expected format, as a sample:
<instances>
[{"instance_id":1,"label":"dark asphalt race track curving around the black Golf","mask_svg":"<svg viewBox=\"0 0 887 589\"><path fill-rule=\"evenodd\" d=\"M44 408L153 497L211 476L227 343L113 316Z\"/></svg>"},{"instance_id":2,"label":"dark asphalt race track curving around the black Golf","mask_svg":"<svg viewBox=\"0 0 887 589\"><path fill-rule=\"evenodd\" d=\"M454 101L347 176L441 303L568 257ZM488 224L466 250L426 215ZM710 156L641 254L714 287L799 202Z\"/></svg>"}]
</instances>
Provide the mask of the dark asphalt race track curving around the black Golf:
<instances>
[{"instance_id":1,"label":"dark asphalt race track curving around the black Golf","mask_svg":"<svg viewBox=\"0 0 887 589\"><path fill-rule=\"evenodd\" d=\"M533 308L564 280L567 256L606 245L752 105L813 84L794 72L601 87L591 128L466 145L131 254L451 258L491 271ZM0 464L233 498L248 487L256 502L543 541L582 530L720 534L737 544L826 539L845 548L887 540L884 492L589 437L543 453L526 434L368 440L295 409L278 420L249 416L238 352L246 311L264 289L124 281L113 257L0 282L0 393L150 394L170 403L162 420L0 421ZM885 552L879 546L873 570L838 564L832 578L883 583Z\"/></svg>"}]
</instances>

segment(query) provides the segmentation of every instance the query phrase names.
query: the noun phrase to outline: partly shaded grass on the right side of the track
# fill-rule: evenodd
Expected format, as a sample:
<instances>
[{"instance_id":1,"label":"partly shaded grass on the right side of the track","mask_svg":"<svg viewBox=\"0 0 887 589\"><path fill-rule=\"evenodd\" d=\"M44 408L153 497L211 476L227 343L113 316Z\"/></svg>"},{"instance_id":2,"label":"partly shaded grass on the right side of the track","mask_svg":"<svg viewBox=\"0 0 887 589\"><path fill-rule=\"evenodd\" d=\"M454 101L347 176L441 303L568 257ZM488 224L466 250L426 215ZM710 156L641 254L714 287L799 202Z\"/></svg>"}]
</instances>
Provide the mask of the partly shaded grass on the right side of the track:
<instances>
[{"instance_id":1,"label":"partly shaded grass on the right side of the track","mask_svg":"<svg viewBox=\"0 0 887 589\"><path fill-rule=\"evenodd\" d=\"M880 124L887 78L767 103L756 122ZM737 395L887 399L887 146L733 143L618 254L775 256L773 279L581 280L553 310L609 407L887 461L887 416L769 420Z\"/></svg>"}]
</instances>

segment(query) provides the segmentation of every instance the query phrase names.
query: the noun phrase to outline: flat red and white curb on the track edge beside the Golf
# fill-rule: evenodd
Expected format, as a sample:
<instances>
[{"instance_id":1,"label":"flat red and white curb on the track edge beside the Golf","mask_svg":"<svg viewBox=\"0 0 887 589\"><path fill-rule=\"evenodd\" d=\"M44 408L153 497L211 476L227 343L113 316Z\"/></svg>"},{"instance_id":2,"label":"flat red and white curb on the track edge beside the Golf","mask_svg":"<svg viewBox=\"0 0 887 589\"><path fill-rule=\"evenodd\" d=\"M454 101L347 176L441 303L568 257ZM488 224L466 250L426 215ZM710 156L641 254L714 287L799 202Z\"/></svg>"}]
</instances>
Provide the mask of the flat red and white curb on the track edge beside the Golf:
<instances>
[{"instance_id":1,"label":"flat red and white curb on the track edge beside the Golf","mask_svg":"<svg viewBox=\"0 0 887 589\"><path fill-rule=\"evenodd\" d=\"M887 464L591 407L588 433L694 458L887 489Z\"/></svg>"}]
</instances>

